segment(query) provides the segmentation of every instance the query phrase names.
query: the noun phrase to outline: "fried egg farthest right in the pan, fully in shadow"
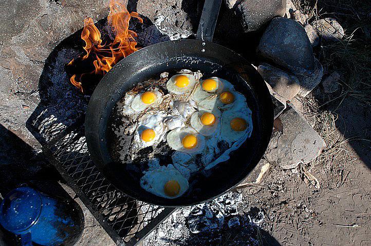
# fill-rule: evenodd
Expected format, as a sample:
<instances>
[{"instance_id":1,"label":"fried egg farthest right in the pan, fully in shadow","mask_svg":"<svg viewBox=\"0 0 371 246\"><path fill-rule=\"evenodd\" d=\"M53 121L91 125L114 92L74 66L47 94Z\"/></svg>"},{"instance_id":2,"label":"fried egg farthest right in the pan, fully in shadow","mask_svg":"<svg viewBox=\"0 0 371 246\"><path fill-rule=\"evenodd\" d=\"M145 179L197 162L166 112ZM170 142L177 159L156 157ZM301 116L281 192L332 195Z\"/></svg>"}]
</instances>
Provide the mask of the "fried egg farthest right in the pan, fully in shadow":
<instances>
[{"instance_id":1,"label":"fried egg farthest right in the pan, fully in shadow","mask_svg":"<svg viewBox=\"0 0 371 246\"><path fill-rule=\"evenodd\" d=\"M220 139L228 144L249 137L252 131L251 110L246 108L242 111L228 110L221 115Z\"/></svg>"}]
</instances>

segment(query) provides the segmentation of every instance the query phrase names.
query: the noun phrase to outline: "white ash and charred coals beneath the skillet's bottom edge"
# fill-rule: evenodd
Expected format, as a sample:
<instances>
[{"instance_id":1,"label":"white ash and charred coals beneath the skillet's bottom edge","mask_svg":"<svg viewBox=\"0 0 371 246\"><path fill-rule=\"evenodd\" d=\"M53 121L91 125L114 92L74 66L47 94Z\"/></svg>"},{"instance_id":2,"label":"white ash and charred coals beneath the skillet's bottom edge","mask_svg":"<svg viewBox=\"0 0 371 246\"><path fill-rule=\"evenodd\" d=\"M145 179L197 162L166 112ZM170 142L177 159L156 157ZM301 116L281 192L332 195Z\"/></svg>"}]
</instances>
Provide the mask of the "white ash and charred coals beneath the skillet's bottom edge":
<instances>
[{"instance_id":1,"label":"white ash and charred coals beneath the skillet's bottom edge","mask_svg":"<svg viewBox=\"0 0 371 246\"><path fill-rule=\"evenodd\" d=\"M252 208L244 213L243 206L242 194L228 192L210 202L179 208L145 238L144 245L220 245L229 240L225 245L257 246L256 231L264 226L264 212Z\"/></svg>"}]
</instances>

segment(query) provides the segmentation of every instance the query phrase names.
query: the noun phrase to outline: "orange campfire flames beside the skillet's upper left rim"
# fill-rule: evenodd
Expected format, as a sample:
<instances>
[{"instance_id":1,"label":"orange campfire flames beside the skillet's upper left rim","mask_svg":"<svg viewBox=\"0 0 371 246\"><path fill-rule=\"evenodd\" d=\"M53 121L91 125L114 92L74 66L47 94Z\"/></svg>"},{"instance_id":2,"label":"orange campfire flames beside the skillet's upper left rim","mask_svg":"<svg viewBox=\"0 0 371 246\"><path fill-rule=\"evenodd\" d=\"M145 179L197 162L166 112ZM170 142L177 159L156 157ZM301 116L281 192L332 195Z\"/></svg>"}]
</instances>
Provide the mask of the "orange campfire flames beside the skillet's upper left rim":
<instances>
[{"instance_id":1,"label":"orange campfire flames beside the skillet's upper left rim","mask_svg":"<svg viewBox=\"0 0 371 246\"><path fill-rule=\"evenodd\" d=\"M140 23L143 23L142 18L139 17L137 12L129 13L124 4L120 3L119 0L110 0L109 9L107 21L115 35L114 40L103 42L101 33L95 26L93 19L90 17L85 18L81 39L85 42L83 48L86 53L76 60L72 59L67 65L67 67L72 66L75 68L72 69L75 73L70 77L70 82L83 93L85 93L83 87L92 86L88 85L91 84L91 80L95 80L96 84L99 83L103 75L122 58L138 50L136 47L137 42L134 39L137 34L129 30L129 20L131 17L134 17ZM81 66L78 64L81 62L88 64Z\"/></svg>"}]
</instances>

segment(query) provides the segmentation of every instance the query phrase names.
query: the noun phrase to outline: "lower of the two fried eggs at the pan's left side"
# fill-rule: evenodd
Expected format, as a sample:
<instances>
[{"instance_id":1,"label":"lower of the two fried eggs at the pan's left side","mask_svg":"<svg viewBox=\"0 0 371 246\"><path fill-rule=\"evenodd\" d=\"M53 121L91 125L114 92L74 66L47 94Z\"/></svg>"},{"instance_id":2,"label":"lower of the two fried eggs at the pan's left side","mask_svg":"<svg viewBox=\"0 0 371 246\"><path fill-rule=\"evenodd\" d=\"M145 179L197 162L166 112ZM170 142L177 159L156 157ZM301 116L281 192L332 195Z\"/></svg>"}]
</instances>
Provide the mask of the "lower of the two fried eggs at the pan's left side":
<instances>
[{"instance_id":1,"label":"lower of the two fried eggs at the pan's left side","mask_svg":"<svg viewBox=\"0 0 371 246\"><path fill-rule=\"evenodd\" d=\"M140 117L133 139L133 150L140 150L162 141L167 129L162 123L164 117L165 114L161 112L146 113Z\"/></svg>"}]
</instances>

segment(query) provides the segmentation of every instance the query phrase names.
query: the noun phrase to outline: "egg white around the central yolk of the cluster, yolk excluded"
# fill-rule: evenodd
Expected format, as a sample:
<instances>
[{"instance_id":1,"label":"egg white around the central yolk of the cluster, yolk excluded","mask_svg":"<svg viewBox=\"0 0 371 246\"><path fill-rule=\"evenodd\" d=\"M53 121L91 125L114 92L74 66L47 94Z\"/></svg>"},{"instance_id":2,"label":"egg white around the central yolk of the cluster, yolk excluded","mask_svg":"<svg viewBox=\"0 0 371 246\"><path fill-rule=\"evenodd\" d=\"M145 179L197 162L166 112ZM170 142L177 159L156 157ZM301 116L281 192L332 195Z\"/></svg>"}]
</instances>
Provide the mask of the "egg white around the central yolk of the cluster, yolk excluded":
<instances>
[{"instance_id":1,"label":"egg white around the central yolk of the cluster, yolk excluded","mask_svg":"<svg viewBox=\"0 0 371 246\"><path fill-rule=\"evenodd\" d=\"M201 133L203 136L210 136L220 129L220 111L214 113L215 122L212 126L205 126L201 122L201 116L206 112L210 112L210 110L200 110L194 112L191 116L191 127L193 127L193 129L195 129L197 132Z\"/></svg>"}]
</instances>

